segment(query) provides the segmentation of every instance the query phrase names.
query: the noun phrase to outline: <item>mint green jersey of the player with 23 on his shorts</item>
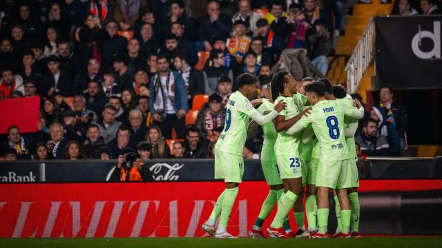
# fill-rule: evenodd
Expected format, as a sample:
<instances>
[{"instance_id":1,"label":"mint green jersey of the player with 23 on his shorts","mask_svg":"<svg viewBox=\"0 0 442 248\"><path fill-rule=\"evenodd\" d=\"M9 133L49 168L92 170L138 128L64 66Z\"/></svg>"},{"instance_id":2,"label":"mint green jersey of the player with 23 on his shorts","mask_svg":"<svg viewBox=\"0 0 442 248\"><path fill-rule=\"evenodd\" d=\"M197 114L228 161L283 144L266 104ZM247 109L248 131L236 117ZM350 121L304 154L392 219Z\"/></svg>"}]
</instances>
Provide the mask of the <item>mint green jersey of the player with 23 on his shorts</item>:
<instances>
[{"instance_id":1,"label":"mint green jersey of the player with 23 on his shorts","mask_svg":"<svg viewBox=\"0 0 442 248\"><path fill-rule=\"evenodd\" d=\"M279 96L275 103L279 101L284 101L287 103L285 110L279 112L280 116L284 116L285 120L297 116L307 102L307 98L302 94L294 94L292 97ZM278 138L276 138L275 143L275 154L276 156L282 155L296 155L298 156L298 147L300 144L301 134L297 133L294 135L287 134L286 131L281 131L278 133Z\"/></svg>"}]
</instances>

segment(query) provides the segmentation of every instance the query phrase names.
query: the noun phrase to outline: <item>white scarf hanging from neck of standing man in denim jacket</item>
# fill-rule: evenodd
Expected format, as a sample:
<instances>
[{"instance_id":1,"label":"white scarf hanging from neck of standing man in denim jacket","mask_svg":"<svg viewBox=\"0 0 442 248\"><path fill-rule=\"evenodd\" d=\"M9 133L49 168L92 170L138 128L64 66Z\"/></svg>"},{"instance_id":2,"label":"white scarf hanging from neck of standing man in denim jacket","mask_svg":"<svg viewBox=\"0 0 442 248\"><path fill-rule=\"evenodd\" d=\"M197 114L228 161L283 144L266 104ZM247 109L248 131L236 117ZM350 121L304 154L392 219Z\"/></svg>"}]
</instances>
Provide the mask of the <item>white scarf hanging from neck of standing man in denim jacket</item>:
<instances>
[{"instance_id":1,"label":"white scarf hanging from neck of standing man in denim jacket","mask_svg":"<svg viewBox=\"0 0 442 248\"><path fill-rule=\"evenodd\" d=\"M164 102L164 92L167 91L167 97L169 97L169 100L173 101L175 99L175 77L173 76L172 71L169 70L167 73L166 85L163 85L161 77L158 76L159 74L160 73L155 74L155 78L153 79L153 87L155 89L155 95L157 96L155 103L153 103L153 108L157 112L162 112L166 104ZM160 94L158 94L158 90L161 90Z\"/></svg>"}]
</instances>

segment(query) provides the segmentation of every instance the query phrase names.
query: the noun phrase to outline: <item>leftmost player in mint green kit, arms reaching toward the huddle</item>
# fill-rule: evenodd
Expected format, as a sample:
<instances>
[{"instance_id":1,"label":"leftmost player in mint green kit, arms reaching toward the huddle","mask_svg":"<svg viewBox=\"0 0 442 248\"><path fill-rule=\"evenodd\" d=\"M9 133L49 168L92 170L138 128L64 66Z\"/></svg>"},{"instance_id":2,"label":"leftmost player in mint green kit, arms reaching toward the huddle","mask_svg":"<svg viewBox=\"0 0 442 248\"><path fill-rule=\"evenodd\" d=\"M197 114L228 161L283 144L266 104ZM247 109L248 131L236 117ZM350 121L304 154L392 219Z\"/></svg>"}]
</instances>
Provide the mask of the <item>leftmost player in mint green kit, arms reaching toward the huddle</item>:
<instances>
[{"instance_id":1,"label":"leftmost player in mint green kit, arms reaching toward the huddle","mask_svg":"<svg viewBox=\"0 0 442 248\"><path fill-rule=\"evenodd\" d=\"M202 229L215 238L234 238L226 228L238 195L238 186L242 182L242 149L246 141L249 118L258 125L264 125L272 121L286 105L280 101L269 114L260 114L250 102L256 98L256 81L256 77L251 74L244 73L238 76L239 90L231 94L227 102L224 130L215 145L215 178L224 178L226 189L218 197L209 220L202 225ZM215 221L219 216L220 223L215 231Z\"/></svg>"}]
</instances>

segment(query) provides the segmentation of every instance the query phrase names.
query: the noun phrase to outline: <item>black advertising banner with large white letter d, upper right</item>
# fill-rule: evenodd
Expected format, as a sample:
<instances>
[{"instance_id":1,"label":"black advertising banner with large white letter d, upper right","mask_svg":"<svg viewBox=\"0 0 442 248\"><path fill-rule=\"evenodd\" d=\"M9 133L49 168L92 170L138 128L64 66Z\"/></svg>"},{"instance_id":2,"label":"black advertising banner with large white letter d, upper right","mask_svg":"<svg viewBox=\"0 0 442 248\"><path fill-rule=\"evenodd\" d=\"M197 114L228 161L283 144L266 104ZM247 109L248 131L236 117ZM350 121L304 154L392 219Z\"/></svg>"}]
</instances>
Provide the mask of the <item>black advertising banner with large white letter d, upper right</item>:
<instances>
[{"instance_id":1,"label":"black advertising banner with large white letter d, upper right","mask_svg":"<svg viewBox=\"0 0 442 248\"><path fill-rule=\"evenodd\" d=\"M442 16L376 17L376 79L394 89L442 88Z\"/></svg>"}]
</instances>

